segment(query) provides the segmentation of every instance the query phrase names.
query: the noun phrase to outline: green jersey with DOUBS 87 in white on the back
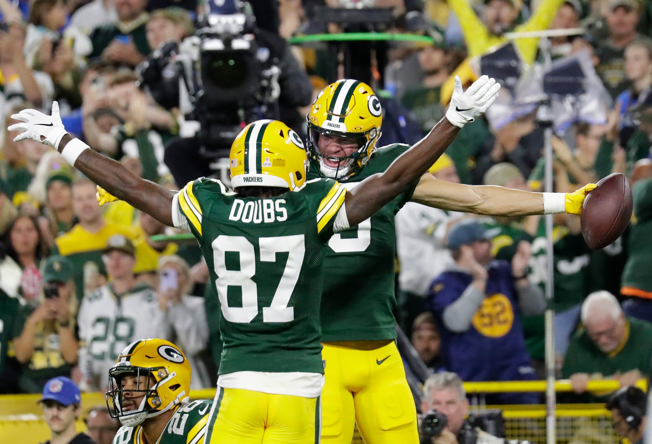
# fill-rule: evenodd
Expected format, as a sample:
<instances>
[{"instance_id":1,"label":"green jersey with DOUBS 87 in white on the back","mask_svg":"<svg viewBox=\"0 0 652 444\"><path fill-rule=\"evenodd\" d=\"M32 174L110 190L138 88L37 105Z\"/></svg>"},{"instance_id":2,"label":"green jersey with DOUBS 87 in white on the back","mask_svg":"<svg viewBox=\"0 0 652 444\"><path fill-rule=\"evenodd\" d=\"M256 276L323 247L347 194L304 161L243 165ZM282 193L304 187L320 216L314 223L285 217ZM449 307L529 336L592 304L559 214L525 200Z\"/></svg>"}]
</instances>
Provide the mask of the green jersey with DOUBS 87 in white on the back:
<instances>
[{"instance_id":1,"label":"green jersey with DOUBS 87 in white on the back","mask_svg":"<svg viewBox=\"0 0 652 444\"><path fill-rule=\"evenodd\" d=\"M175 226L200 242L220 302L219 374L323 373L321 269L345 196L326 179L268 199L207 178L177 193Z\"/></svg>"}]
</instances>

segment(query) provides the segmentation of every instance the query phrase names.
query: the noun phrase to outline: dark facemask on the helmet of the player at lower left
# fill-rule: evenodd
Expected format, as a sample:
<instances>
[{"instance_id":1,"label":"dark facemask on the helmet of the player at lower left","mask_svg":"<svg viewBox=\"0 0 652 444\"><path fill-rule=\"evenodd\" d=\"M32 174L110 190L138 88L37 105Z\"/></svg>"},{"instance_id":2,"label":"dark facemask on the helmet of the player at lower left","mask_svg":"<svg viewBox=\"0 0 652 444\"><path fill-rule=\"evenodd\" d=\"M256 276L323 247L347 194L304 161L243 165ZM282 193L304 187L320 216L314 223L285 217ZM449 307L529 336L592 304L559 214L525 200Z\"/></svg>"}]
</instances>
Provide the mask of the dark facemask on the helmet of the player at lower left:
<instances>
[{"instance_id":1,"label":"dark facemask on the helmet of the player at lower left","mask_svg":"<svg viewBox=\"0 0 652 444\"><path fill-rule=\"evenodd\" d=\"M136 378L136 389L123 388L122 382L126 376ZM188 395L185 391L179 393L172 402L163 408L161 408L161 396L158 395L158 388L175 376L175 372L170 373L165 367L143 368L123 365L111 368L109 370L109 391L106 392L106 405L111 411L111 417L119 419L127 427L135 427L145 419L158 416L173 406L181 404L183 398ZM144 382L141 381L143 377L145 378ZM149 387L153 381L155 383ZM130 393L132 396L125 398L125 393ZM139 397L138 395L143 395L143 398L136 409L123 410L123 401ZM109 399L113 406L109 404Z\"/></svg>"}]
</instances>

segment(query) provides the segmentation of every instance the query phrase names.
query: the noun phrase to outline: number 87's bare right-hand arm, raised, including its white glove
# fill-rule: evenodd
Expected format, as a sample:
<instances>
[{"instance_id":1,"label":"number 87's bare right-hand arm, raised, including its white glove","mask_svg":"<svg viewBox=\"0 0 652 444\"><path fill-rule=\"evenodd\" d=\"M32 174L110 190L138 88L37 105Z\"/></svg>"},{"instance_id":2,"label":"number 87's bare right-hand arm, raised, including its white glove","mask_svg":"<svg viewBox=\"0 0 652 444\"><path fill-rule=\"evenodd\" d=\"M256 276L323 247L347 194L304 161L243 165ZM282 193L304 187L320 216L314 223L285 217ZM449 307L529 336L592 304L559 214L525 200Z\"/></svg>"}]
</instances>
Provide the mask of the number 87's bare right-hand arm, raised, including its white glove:
<instances>
[{"instance_id":1,"label":"number 87's bare right-hand arm, raised, including its white glove","mask_svg":"<svg viewBox=\"0 0 652 444\"><path fill-rule=\"evenodd\" d=\"M387 202L408 189L441 156L467 122L486 111L496 100L500 85L487 76L480 77L469 89L462 90L462 81L455 79L455 91L446 117L416 145L398 156L382 174L374 174L346 195L349 225L357 225L378 211Z\"/></svg>"}]
</instances>

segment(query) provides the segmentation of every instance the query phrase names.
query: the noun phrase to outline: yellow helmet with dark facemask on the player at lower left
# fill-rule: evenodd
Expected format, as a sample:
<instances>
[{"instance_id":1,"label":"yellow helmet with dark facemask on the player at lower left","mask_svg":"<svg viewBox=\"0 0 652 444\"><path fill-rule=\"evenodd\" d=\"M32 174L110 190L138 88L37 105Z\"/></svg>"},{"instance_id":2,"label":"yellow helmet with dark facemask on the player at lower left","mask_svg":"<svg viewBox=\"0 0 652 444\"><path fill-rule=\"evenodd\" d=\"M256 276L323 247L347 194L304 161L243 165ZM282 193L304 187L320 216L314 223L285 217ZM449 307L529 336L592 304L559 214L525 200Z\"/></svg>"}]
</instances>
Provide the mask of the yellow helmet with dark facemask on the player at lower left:
<instances>
[{"instance_id":1,"label":"yellow helmet with dark facemask on the player at lower left","mask_svg":"<svg viewBox=\"0 0 652 444\"><path fill-rule=\"evenodd\" d=\"M183 352L167 340L132 342L109 370L106 405L112 411L111 417L135 427L185 404L190 400L191 371Z\"/></svg>"}]
</instances>

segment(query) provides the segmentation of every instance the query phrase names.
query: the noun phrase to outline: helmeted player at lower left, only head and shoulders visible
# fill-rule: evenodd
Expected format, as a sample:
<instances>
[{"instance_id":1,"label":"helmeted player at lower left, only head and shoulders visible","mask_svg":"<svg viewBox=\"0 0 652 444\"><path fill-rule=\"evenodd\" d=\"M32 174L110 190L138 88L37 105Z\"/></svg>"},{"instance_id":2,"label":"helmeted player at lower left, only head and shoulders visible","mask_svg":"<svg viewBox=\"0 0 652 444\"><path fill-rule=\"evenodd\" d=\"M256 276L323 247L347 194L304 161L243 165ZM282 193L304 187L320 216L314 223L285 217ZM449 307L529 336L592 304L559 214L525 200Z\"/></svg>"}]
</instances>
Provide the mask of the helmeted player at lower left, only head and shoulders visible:
<instances>
[{"instance_id":1,"label":"helmeted player at lower left, only head and shoulders visible","mask_svg":"<svg viewBox=\"0 0 652 444\"><path fill-rule=\"evenodd\" d=\"M140 339L109 370L106 404L123 426L113 444L203 444L213 400L190 399L190 363L171 342Z\"/></svg>"}]
</instances>

